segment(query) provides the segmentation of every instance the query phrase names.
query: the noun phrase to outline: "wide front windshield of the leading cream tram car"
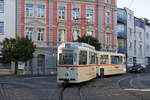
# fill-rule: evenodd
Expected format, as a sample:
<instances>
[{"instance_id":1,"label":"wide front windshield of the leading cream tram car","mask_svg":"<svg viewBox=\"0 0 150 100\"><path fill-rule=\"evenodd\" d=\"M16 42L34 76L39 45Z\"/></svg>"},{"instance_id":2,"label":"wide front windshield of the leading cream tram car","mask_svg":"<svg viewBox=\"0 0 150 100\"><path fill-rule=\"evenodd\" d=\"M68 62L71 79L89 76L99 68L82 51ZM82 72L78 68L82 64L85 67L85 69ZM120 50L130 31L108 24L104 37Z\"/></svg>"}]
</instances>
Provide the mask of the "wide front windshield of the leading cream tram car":
<instances>
[{"instance_id":1,"label":"wide front windshield of the leading cream tram car","mask_svg":"<svg viewBox=\"0 0 150 100\"><path fill-rule=\"evenodd\" d=\"M59 64L60 65L76 65L77 64L77 54L73 52L65 52L59 54Z\"/></svg>"}]
</instances>

